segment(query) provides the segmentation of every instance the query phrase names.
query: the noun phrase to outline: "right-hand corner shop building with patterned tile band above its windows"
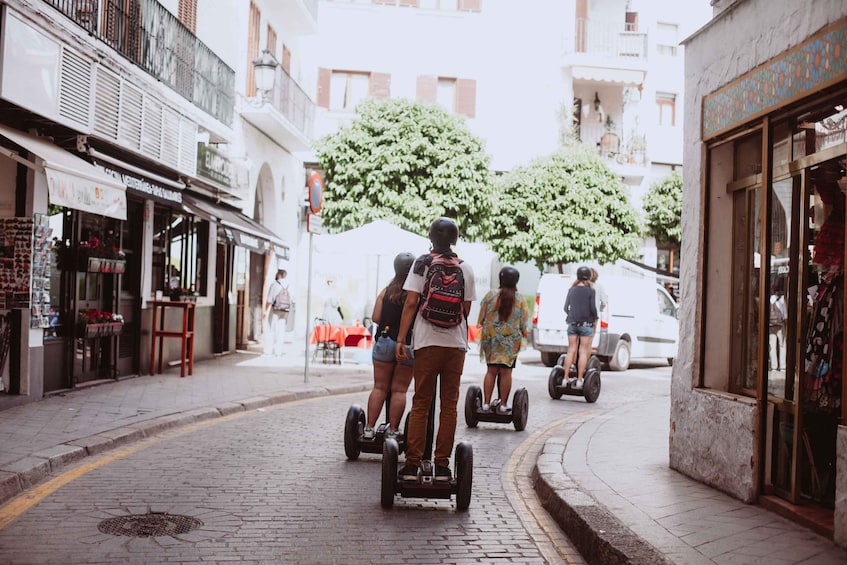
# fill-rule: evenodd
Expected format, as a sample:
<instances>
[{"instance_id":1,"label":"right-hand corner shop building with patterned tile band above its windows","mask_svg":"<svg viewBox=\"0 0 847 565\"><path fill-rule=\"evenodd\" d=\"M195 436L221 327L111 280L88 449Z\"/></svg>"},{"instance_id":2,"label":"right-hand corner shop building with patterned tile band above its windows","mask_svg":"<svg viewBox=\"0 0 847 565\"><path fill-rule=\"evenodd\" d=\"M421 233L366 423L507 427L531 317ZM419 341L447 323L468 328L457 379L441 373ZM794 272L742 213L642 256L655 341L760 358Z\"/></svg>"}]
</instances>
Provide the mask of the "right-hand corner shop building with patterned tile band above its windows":
<instances>
[{"instance_id":1,"label":"right-hand corner shop building with patterned tile band above its windows","mask_svg":"<svg viewBox=\"0 0 847 565\"><path fill-rule=\"evenodd\" d=\"M712 4L685 42L670 464L847 545L847 5Z\"/></svg>"}]
</instances>

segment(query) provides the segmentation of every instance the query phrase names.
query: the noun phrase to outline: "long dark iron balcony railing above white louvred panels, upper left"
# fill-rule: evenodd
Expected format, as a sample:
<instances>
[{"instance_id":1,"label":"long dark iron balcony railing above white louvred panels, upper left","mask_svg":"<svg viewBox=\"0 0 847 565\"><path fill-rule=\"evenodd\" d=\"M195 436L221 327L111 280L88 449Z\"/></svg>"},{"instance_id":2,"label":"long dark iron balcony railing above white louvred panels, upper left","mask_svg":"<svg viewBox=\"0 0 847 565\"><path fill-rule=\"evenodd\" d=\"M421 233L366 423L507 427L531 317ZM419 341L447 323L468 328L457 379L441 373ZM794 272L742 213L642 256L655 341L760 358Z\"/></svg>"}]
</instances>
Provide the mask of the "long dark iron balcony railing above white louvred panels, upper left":
<instances>
[{"instance_id":1,"label":"long dark iron balcony railing above white louvred panels, upper left","mask_svg":"<svg viewBox=\"0 0 847 565\"><path fill-rule=\"evenodd\" d=\"M221 122L231 125L235 71L157 0L44 0Z\"/></svg>"}]
</instances>

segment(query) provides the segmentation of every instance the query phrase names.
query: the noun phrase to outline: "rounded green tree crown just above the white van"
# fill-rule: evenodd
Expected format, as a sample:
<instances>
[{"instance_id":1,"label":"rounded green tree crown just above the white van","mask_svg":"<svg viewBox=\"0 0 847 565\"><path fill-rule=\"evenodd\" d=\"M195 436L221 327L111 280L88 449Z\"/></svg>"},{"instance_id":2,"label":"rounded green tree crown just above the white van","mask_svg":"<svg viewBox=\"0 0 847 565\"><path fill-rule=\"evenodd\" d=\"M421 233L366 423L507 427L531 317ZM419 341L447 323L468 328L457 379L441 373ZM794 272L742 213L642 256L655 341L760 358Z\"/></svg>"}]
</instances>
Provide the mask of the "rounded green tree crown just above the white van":
<instances>
[{"instance_id":1,"label":"rounded green tree crown just above the white van","mask_svg":"<svg viewBox=\"0 0 847 565\"><path fill-rule=\"evenodd\" d=\"M633 257L639 226L617 175L583 145L498 179L486 241L506 262L545 265Z\"/></svg>"}]
</instances>

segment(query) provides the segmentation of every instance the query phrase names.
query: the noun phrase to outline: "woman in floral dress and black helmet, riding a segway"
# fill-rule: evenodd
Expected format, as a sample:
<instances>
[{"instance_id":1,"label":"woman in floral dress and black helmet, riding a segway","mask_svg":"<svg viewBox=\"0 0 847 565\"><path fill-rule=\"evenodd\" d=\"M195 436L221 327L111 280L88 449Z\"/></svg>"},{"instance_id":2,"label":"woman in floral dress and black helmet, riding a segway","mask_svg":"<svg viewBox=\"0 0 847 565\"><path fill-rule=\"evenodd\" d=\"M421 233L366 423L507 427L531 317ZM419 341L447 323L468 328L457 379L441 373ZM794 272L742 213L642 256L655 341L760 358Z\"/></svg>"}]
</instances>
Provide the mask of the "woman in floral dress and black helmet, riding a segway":
<instances>
[{"instance_id":1,"label":"woman in floral dress and black helmet, riding a segway","mask_svg":"<svg viewBox=\"0 0 847 565\"><path fill-rule=\"evenodd\" d=\"M488 369L482 383L483 412L491 409L491 395L497 382L500 405L499 414L508 414L509 393L512 389L512 369L518 360L523 339L527 334L529 309L517 291L520 273L514 267L500 269L499 290L489 291L482 299L477 325L480 332L479 355Z\"/></svg>"}]
</instances>

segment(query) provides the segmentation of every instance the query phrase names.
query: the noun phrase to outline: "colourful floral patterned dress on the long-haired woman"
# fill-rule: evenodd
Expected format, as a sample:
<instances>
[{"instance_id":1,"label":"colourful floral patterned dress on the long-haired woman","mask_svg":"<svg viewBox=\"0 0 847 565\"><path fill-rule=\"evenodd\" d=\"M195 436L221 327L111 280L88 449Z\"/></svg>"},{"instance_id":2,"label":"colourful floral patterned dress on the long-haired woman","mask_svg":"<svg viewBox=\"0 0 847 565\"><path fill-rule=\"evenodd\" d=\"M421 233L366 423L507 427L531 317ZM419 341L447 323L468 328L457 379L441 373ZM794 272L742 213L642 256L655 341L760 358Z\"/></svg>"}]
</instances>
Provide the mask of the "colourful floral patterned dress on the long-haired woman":
<instances>
[{"instance_id":1,"label":"colourful floral patterned dress on the long-haired woman","mask_svg":"<svg viewBox=\"0 0 847 565\"><path fill-rule=\"evenodd\" d=\"M482 299L478 325L482 326L479 338L479 356L486 364L514 367L527 330L529 308L520 293L515 293L515 307L505 322L500 322L497 312L499 290L489 291Z\"/></svg>"}]
</instances>

